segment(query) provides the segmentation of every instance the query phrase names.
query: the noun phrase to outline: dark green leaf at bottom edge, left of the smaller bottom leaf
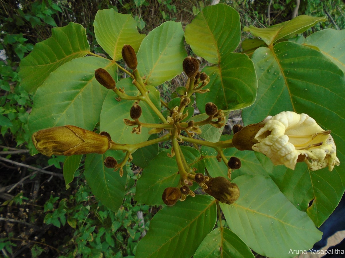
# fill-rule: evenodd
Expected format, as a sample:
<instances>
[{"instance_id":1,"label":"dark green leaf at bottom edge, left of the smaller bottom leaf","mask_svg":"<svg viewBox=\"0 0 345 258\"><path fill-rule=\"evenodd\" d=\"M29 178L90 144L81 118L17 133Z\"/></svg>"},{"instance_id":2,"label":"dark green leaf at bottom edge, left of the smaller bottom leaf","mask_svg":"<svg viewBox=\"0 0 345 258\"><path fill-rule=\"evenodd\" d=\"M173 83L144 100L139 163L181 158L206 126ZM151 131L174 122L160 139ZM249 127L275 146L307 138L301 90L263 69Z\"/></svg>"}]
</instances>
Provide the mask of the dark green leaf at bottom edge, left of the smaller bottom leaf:
<instances>
[{"instance_id":1,"label":"dark green leaf at bottom edge, left of the smaller bottom leaf","mask_svg":"<svg viewBox=\"0 0 345 258\"><path fill-rule=\"evenodd\" d=\"M136 257L186 257L194 252L216 223L213 197L196 195L161 209L138 244Z\"/></svg>"}]
</instances>

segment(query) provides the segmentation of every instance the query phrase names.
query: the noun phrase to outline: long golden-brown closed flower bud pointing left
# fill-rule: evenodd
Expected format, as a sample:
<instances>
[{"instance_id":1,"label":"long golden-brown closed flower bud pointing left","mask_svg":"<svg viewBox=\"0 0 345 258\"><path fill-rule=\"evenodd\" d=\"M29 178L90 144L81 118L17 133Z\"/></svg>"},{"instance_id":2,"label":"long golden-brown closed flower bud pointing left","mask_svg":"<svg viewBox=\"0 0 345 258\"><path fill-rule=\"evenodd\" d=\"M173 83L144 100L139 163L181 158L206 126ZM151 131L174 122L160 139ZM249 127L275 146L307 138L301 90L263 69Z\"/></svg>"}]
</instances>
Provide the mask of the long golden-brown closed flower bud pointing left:
<instances>
[{"instance_id":1,"label":"long golden-brown closed flower bud pointing left","mask_svg":"<svg viewBox=\"0 0 345 258\"><path fill-rule=\"evenodd\" d=\"M108 133L88 131L76 126L66 125L48 128L33 133L32 142L43 155L103 154L110 148Z\"/></svg>"}]
</instances>

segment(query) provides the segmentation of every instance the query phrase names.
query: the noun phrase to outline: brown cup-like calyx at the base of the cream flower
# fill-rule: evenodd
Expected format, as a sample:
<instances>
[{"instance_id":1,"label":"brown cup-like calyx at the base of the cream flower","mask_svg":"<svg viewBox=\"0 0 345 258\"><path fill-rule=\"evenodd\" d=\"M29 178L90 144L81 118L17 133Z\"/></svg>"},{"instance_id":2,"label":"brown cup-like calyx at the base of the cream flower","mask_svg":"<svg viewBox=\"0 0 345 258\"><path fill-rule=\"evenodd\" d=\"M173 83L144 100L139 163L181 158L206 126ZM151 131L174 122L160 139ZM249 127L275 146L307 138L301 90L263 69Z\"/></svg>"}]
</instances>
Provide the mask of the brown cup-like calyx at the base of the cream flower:
<instances>
[{"instance_id":1,"label":"brown cup-like calyx at the base of the cream flower","mask_svg":"<svg viewBox=\"0 0 345 258\"><path fill-rule=\"evenodd\" d=\"M258 143L258 141L254 139L255 135L262 127L264 127L264 124L253 123L236 132L233 137L235 148L238 150L253 150L252 146Z\"/></svg>"}]
</instances>

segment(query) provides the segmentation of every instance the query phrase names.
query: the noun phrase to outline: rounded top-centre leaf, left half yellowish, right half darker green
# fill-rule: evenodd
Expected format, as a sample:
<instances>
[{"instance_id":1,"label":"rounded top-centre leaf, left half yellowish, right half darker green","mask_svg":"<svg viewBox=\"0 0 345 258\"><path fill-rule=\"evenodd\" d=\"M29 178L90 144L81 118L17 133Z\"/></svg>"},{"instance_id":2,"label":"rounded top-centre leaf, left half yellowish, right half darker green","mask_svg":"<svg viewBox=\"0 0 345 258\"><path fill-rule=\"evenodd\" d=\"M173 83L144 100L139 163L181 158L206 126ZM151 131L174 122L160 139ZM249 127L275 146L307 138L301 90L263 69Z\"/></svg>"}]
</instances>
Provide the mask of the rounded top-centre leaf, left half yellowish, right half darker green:
<instances>
[{"instance_id":1,"label":"rounded top-centre leaf, left half yellowish, right half darker green","mask_svg":"<svg viewBox=\"0 0 345 258\"><path fill-rule=\"evenodd\" d=\"M222 55L233 52L240 43L239 14L226 4L205 7L186 26L185 38L196 55L218 64Z\"/></svg>"}]
</instances>

